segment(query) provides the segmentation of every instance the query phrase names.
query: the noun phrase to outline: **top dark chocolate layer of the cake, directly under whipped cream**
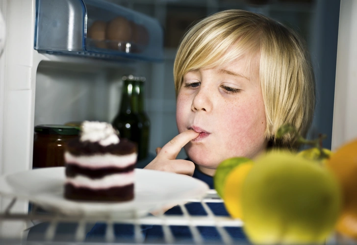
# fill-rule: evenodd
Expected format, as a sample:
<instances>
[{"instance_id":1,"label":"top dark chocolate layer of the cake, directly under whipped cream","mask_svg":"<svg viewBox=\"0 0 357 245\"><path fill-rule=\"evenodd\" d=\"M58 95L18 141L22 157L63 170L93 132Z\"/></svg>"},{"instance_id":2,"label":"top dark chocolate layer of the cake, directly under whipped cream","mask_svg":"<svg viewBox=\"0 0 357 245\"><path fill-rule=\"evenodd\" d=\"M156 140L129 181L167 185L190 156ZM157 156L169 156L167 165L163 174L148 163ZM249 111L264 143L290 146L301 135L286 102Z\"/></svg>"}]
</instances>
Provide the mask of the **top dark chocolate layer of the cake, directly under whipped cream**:
<instances>
[{"instance_id":1,"label":"top dark chocolate layer of the cake, directly under whipped cream","mask_svg":"<svg viewBox=\"0 0 357 245\"><path fill-rule=\"evenodd\" d=\"M102 146L98 142L80 141L79 138L73 139L67 144L67 150L75 156L79 155L95 155L111 153L114 155L128 155L137 151L135 143L128 141L125 138L120 139L118 144Z\"/></svg>"}]
</instances>

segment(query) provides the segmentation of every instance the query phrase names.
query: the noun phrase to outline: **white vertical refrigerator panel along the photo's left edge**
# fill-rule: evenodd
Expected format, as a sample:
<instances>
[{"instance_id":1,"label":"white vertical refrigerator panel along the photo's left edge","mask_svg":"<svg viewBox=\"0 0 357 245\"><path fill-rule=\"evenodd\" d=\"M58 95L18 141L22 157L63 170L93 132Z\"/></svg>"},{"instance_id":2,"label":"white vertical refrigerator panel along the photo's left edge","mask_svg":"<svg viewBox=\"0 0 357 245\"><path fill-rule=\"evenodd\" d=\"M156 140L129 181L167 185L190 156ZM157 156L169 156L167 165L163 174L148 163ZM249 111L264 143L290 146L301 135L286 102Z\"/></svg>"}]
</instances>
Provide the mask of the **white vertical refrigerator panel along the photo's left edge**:
<instances>
[{"instance_id":1,"label":"white vertical refrigerator panel along the photo's left edge","mask_svg":"<svg viewBox=\"0 0 357 245\"><path fill-rule=\"evenodd\" d=\"M40 55L33 49L35 0L2 0L6 43L1 57L1 169L27 170L32 156L35 77Z\"/></svg>"}]
</instances>

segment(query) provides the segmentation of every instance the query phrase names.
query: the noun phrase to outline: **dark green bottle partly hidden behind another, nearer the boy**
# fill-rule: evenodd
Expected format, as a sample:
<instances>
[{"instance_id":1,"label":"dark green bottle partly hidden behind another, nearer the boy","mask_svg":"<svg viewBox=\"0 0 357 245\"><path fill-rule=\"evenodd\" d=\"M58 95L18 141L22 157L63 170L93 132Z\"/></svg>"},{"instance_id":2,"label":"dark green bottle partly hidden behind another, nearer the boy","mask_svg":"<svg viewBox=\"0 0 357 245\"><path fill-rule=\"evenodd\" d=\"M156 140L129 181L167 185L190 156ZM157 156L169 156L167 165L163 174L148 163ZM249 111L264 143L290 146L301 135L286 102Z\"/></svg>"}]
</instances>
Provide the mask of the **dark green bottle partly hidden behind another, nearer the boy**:
<instances>
[{"instance_id":1,"label":"dark green bottle partly hidden behind another, nearer the boy","mask_svg":"<svg viewBox=\"0 0 357 245\"><path fill-rule=\"evenodd\" d=\"M150 120L145 111L145 77L138 77L135 83L135 91L138 96L139 128L141 129L139 157L145 159L149 155Z\"/></svg>"}]
</instances>

